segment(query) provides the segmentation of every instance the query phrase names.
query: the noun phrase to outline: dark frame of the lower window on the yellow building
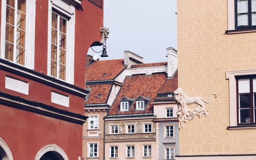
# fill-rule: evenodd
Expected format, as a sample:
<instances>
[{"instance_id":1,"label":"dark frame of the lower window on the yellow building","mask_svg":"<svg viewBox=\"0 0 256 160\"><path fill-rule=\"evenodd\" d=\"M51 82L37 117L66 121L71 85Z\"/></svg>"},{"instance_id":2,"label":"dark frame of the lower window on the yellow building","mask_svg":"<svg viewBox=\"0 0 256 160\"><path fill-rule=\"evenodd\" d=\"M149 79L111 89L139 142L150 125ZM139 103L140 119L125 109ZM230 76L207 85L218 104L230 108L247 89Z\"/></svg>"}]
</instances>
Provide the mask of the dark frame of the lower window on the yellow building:
<instances>
[{"instance_id":1,"label":"dark frame of the lower window on the yellow building","mask_svg":"<svg viewBox=\"0 0 256 160\"><path fill-rule=\"evenodd\" d=\"M250 123L240 123L240 117L239 117L239 84L238 80L241 79L249 79L250 80L250 109L251 109L251 122ZM236 80L236 119L237 119L237 125L256 125L256 119L254 122L254 101L253 101L253 79L256 79L256 75L242 75L242 76L235 76ZM256 114L256 112L255 112Z\"/></svg>"}]
</instances>

